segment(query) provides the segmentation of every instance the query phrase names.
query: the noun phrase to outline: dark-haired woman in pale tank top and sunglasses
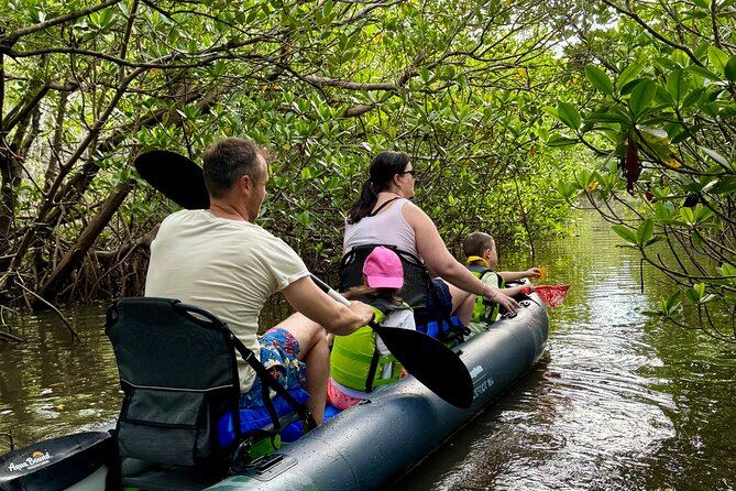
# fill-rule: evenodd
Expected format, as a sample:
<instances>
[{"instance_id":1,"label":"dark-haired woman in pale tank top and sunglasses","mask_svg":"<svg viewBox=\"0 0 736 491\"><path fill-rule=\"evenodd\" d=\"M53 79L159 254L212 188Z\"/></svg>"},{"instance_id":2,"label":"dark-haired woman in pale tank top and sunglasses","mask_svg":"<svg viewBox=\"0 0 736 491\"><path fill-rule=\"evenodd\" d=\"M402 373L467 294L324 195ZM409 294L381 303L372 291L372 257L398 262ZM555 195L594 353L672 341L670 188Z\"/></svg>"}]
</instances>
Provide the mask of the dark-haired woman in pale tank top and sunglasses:
<instances>
[{"instance_id":1,"label":"dark-haired woman in pale tank top and sunglasses","mask_svg":"<svg viewBox=\"0 0 736 491\"><path fill-rule=\"evenodd\" d=\"M450 310L466 325L475 295L516 310L514 298L487 286L450 254L431 218L409 201L415 184L409 155L381 152L371 162L369 174L345 220L343 254L358 246L383 244L419 257L439 275L433 281L440 297L444 297L440 303L446 305L432 306L439 314L437 318Z\"/></svg>"}]
</instances>

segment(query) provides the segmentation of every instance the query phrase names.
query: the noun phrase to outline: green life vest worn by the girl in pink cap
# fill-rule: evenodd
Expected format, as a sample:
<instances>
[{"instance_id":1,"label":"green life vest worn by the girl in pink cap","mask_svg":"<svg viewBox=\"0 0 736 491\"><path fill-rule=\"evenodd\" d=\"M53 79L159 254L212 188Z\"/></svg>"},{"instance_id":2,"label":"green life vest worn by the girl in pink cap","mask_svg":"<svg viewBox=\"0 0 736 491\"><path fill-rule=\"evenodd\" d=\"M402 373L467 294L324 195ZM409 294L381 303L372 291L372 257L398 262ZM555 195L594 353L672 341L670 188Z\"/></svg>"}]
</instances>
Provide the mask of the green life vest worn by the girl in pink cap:
<instances>
[{"instance_id":1,"label":"green life vest worn by the girl in pink cap","mask_svg":"<svg viewBox=\"0 0 736 491\"><path fill-rule=\"evenodd\" d=\"M396 309L409 308L408 305L397 306L388 302L370 301L375 312L376 323ZM375 332L363 326L349 336L336 336L330 353L330 377L341 385L361 392L372 392L378 385L396 382L402 373L402 365L393 354L382 356L376 346ZM381 378L384 367L391 364L391 375ZM378 378L376 378L378 373Z\"/></svg>"}]
</instances>

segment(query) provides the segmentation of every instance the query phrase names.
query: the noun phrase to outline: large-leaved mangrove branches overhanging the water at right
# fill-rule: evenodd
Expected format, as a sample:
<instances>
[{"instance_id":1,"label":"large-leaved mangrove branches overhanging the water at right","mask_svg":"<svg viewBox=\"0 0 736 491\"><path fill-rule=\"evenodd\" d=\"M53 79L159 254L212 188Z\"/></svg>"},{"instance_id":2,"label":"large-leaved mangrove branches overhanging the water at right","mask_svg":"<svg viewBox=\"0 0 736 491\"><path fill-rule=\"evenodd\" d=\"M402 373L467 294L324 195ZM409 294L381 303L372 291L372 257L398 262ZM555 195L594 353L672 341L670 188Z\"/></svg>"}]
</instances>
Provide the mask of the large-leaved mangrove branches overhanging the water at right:
<instances>
[{"instance_id":1,"label":"large-leaved mangrove branches overhanging the water at right","mask_svg":"<svg viewBox=\"0 0 736 491\"><path fill-rule=\"evenodd\" d=\"M736 341L736 1L603 0L570 46L587 88L548 111L554 145L584 145L595 168L562 182L590 199L642 263L679 290L659 315L695 309ZM661 243L660 243L661 242ZM661 254L662 249L668 249ZM667 253L669 252L669 253ZM662 258L674 258L664 260ZM686 326L685 326L686 327Z\"/></svg>"}]
</instances>

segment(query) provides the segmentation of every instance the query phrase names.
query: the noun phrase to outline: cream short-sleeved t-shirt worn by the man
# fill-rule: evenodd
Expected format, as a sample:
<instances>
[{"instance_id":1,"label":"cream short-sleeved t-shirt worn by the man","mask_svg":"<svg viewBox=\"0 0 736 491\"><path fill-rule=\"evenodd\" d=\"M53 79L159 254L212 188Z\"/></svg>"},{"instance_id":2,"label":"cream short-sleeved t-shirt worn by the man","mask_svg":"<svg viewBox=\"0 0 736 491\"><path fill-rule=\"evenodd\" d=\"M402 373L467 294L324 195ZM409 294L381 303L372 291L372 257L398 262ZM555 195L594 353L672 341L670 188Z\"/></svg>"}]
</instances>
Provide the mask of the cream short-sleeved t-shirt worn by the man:
<instances>
[{"instance_id":1,"label":"cream short-sleeved t-shirt worn by the man","mask_svg":"<svg viewBox=\"0 0 736 491\"><path fill-rule=\"evenodd\" d=\"M182 210L161 223L151 244L145 295L178 298L228 323L260 358L259 316L271 295L309 275L283 240L257 225L228 220L209 210ZM253 370L239 357L240 386Z\"/></svg>"}]
</instances>

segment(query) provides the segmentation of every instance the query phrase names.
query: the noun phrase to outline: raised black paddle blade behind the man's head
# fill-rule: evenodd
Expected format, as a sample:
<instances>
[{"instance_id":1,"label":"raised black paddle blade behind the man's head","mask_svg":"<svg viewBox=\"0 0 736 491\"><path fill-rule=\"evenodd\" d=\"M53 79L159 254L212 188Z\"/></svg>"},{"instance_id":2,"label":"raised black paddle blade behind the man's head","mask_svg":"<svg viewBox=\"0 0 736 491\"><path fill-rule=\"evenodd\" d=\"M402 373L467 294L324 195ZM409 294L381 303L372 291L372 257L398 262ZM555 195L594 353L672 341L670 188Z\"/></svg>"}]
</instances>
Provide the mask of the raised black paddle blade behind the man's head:
<instances>
[{"instance_id":1,"label":"raised black paddle blade behind the man's head","mask_svg":"<svg viewBox=\"0 0 736 491\"><path fill-rule=\"evenodd\" d=\"M209 194L199 165L168 150L144 152L133 162L154 189L187 209L209 208Z\"/></svg>"}]
</instances>

